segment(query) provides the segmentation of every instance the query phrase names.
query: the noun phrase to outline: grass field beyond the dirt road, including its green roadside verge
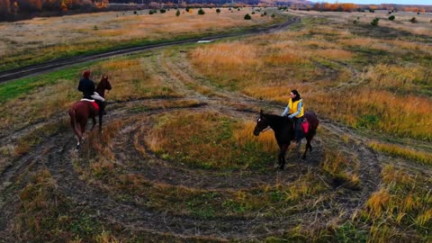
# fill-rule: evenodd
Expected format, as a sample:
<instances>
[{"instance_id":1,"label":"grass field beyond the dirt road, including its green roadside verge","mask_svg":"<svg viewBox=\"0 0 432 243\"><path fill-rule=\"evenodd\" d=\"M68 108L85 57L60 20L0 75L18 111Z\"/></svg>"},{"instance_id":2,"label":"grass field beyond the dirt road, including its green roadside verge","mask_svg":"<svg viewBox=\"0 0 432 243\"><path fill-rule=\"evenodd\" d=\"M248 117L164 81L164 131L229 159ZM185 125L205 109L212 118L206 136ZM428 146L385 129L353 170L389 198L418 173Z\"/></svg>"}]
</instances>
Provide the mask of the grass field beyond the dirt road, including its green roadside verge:
<instances>
[{"instance_id":1,"label":"grass field beyond the dirt road, including its green roadside verge","mask_svg":"<svg viewBox=\"0 0 432 243\"><path fill-rule=\"evenodd\" d=\"M235 11L234 11L235 10ZM253 26L274 23L270 15L256 15L250 21L243 16L250 9L204 9L205 14L171 9L165 14L148 14L148 10L78 14L35 18L16 23L0 23L0 70L37 64L55 58L73 57L162 40L202 37L224 31L241 31Z\"/></svg>"}]
</instances>

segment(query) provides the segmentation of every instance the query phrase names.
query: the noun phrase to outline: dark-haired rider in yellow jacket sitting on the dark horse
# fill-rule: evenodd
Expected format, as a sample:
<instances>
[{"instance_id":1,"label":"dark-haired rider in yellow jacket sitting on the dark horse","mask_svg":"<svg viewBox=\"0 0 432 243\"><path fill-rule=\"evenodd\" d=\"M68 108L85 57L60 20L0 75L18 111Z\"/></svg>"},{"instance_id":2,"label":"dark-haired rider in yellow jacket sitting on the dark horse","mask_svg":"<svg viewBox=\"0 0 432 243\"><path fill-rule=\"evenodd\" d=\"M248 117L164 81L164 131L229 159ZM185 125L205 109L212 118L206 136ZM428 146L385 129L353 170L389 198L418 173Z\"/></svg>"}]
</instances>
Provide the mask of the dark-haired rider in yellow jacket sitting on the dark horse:
<instances>
[{"instance_id":1,"label":"dark-haired rider in yellow jacket sitting on the dark horse","mask_svg":"<svg viewBox=\"0 0 432 243\"><path fill-rule=\"evenodd\" d=\"M299 142L302 139L302 121L304 115L303 100L297 90L293 89L290 93L290 101L286 106L282 116L288 115L289 119L294 121L295 141Z\"/></svg>"}]
</instances>

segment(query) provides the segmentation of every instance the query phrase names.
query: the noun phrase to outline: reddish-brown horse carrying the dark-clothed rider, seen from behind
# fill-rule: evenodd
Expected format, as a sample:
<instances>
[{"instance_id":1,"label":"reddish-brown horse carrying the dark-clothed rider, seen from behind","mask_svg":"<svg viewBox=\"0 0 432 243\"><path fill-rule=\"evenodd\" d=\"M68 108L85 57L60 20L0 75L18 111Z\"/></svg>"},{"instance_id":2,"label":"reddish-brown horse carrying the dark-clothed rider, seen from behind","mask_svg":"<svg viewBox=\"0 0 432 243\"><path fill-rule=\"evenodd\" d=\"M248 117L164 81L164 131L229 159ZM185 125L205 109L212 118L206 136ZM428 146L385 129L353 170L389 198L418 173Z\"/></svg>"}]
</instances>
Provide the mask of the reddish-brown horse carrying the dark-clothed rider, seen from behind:
<instances>
[{"instance_id":1,"label":"reddish-brown horse carrying the dark-clothed rider, seen from behind","mask_svg":"<svg viewBox=\"0 0 432 243\"><path fill-rule=\"evenodd\" d=\"M102 76L101 82L96 86L96 92L104 98L105 90L109 91L111 88L112 86L108 80L108 76ZM76 148L79 148L79 145L84 138L85 125L87 124L88 119L93 120L93 126L90 129L93 130L96 125L96 116L99 116L99 132L102 132L104 104L98 103L98 106L99 111L97 111L93 103L89 101L78 101L70 107L68 113L70 117L70 125L72 126L72 130L74 130L77 139Z\"/></svg>"}]
</instances>

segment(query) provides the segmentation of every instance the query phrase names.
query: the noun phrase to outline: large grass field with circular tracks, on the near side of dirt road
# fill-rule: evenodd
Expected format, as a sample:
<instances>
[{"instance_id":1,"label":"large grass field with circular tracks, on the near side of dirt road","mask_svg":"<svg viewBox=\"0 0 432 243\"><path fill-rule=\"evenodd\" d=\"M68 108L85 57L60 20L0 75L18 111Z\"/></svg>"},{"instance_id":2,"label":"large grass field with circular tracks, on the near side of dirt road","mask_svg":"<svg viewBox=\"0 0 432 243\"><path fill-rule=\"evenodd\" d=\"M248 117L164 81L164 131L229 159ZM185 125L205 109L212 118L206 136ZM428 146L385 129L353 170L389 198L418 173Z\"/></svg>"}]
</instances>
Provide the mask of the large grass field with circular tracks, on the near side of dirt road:
<instances>
[{"instance_id":1,"label":"large grass field with circular tracks, on the near side of dirt road","mask_svg":"<svg viewBox=\"0 0 432 243\"><path fill-rule=\"evenodd\" d=\"M0 84L0 238L430 242L432 16L277 14L302 22ZM75 151L66 111L86 68L113 88L103 133ZM320 127L278 171L274 132L252 131L294 88Z\"/></svg>"}]
</instances>

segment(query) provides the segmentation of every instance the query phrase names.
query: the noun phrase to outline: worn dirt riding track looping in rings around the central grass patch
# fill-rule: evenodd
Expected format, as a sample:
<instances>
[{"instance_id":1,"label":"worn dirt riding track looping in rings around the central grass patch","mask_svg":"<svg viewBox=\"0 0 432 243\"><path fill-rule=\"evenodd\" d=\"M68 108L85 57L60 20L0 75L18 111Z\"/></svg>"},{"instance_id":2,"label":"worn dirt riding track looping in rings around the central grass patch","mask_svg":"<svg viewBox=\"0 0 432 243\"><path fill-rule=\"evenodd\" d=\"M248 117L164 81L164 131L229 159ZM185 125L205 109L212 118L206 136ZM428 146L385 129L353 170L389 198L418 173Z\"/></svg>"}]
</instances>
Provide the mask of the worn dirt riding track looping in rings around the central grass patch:
<instances>
[{"instance_id":1,"label":"worn dirt riding track looping in rings around the central grass patch","mask_svg":"<svg viewBox=\"0 0 432 243\"><path fill-rule=\"evenodd\" d=\"M17 213L15 205L19 204L16 194L29 182L30 175L41 168L49 170L58 194L66 196L76 205L78 211L86 211L91 217L102 221L106 227L120 226L121 230L130 234L139 233L157 238L167 235L184 241L262 239L282 235L285 229L292 229L297 225L325 227L331 221L351 217L377 189L380 184L380 157L366 147L365 139L356 135L356 132L331 121L321 121L318 135L312 141L314 150L308 154L306 160L298 159L290 150L288 165L284 171L273 168L266 172L248 168L234 171L209 170L160 157L148 148L145 142L150 128L154 126L153 121L148 118L172 112L220 112L238 121L255 121L259 108L264 107L268 112L281 111L281 107L275 103L230 92L211 84L209 80L197 75L188 62L181 61L186 58L184 53L176 55L175 58L167 58L165 55L168 54L162 52L158 55L153 68L181 97L138 99L108 105L109 114L105 118L105 126L115 121L124 121L123 129L112 141L112 152L115 155L113 160L122 174L139 175L139 178L148 184L149 192L154 190L152 188L169 187L179 192L185 190L217 193L224 197L237 192L255 192L275 184L295 186L305 175L313 173L322 175L317 179L326 187L318 194L318 199L301 199L297 205L311 206L304 208L294 204L279 215L272 215L268 211L264 213L266 209L263 209L263 212L254 211L243 216L198 217L187 211L172 210L169 205L166 205L166 210L163 207L155 208L148 204L152 200L148 193L139 193L135 198L124 199L119 196L121 192L118 189L112 189L112 184L103 184L103 181L98 181L97 178L83 177L82 167L76 165L76 161L84 156L84 152L75 151L76 140L71 130L61 130L4 168L0 177L0 209L3 211L0 216L0 238L6 241L16 240L12 228L12 220ZM133 107L148 103L192 101L194 105L190 106L131 112ZM115 104L115 108L110 107L112 104ZM66 114L58 114L48 121L31 124L18 132L2 132L0 142L10 142L29 130L59 119L67 120ZM322 132L325 132L325 135ZM341 136L349 137L349 142L342 142ZM320 161L325 146L329 143L336 143L338 149L352 155L358 166L360 186L350 188L343 182L332 181L322 174ZM273 167L274 162L263 161L269 167Z\"/></svg>"}]
</instances>

